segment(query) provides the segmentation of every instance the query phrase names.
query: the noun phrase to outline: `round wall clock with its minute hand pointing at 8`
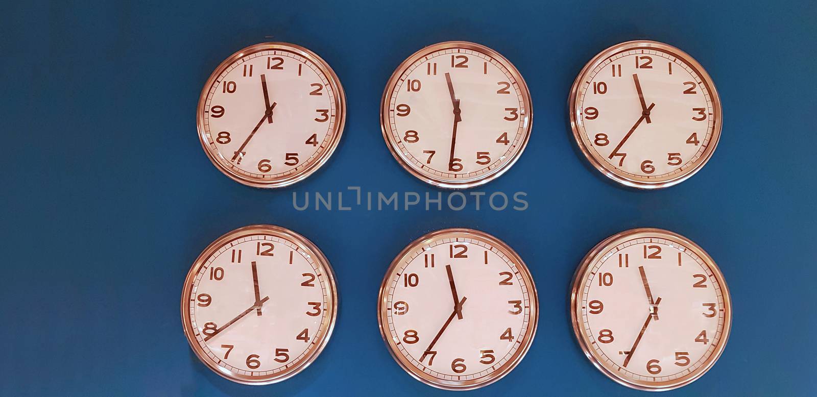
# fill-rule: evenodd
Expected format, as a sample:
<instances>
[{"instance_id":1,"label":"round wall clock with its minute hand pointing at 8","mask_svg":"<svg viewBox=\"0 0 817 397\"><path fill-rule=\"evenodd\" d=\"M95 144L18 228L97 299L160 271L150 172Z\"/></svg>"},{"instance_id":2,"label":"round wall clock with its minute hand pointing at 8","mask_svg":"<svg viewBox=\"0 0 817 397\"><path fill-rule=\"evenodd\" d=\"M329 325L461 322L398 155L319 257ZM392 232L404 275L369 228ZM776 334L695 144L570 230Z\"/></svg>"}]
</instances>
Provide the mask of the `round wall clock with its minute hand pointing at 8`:
<instances>
[{"instance_id":1,"label":"round wall clock with its minute hand pointing at 8","mask_svg":"<svg viewBox=\"0 0 817 397\"><path fill-rule=\"evenodd\" d=\"M199 255L181 293L190 347L217 374L248 385L283 381L320 354L337 317L332 266L315 244L251 225Z\"/></svg>"}]
</instances>

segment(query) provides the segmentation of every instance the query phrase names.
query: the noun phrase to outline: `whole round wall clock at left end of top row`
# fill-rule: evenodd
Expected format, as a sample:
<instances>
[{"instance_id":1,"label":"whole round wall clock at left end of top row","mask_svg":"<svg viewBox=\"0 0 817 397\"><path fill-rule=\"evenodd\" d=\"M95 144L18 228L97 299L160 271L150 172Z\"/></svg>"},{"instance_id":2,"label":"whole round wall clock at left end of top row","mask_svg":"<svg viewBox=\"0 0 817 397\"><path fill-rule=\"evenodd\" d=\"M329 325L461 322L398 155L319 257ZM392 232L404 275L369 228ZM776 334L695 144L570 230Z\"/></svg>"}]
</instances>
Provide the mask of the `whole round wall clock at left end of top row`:
<instances>
[{"instance_id":1,"label":"whole round wall clock at left end of top row","mask_svg":"<svg viewBox=\"0 0 817 397\"><path fill-rule=\"evenodd\" d=\"M314 52L264 42L213 71L199 98L199 140L210 161L244 185L277 188L305 179L341 139L346 98Z\"/></svg>"}]
</instances>

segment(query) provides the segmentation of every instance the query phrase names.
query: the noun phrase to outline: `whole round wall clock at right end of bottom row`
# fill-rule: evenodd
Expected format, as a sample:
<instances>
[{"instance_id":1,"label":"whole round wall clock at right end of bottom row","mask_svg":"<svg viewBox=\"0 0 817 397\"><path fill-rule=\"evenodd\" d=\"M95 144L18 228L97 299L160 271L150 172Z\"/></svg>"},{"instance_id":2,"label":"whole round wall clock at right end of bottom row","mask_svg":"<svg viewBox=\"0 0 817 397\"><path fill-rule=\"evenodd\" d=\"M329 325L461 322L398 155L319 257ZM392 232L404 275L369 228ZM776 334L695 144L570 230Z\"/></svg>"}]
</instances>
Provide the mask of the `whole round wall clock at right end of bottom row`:
<instances>
[{"instance_id":1,"label":"whole round wall clock at right end of bottom row","mask_svg":"<svg viewBox=\"0 0 817 397\"><path fill-rule=\"evenodd\" d=\"M570 296L587 358L639 390L685 386L712 368L729 337L732 306L721 270L685 237L633 229L584 257Z\"/></svg>"}]
</instances>

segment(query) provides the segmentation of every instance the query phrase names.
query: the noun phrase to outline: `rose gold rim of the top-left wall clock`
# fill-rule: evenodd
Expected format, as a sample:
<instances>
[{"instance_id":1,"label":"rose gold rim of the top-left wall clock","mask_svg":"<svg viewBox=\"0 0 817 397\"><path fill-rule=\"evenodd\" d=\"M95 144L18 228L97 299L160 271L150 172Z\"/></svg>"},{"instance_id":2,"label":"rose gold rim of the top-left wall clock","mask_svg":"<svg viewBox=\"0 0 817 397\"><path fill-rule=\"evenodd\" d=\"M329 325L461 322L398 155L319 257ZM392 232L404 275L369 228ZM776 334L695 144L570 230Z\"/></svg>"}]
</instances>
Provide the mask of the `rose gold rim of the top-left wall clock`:
<instances>
[{"instance_id":1,"label":"rose gold rim of the top-left wall clock","mask_svg":"<svg viewBox=\"0 0 817 397\"><path fill-rule=\"evenodd\" d=\"M255 178L252 176L243 175L240 172L235 172L230 167L226 167L224 164L221 163L219 158L221 154L219 154L218 150L211 145L210 140L208 139L208 132L204 129L204 108L207 105L207 97L212 84L216 82L217 78L224 72L224 70L232 65L234 62L240 60L241 58L254 54L258 51L270 51L270 50L280 50L280 51L289 51L295 53L299 56L303 56L307 60L310 60L314 63L320 71L326 76L329 83L332 86L334 92L337 93L336 95L336 106L337 110L335 111L335 126L332 130L332 140L329 141L327 148L324 150L324 153L316 158L315 161L310 165L310 167L306 167L299 172L295 172L286 176L281 176L275 179L261 179ZM343 135L343 127L346 123L346 95L343 92L343 86L341 85L341 80L337 78L337 74L329 66L326 61L312 52L305 47L298 46L297 44L292 44L288 42L261 42L258 44L254 44L249 47L242 48L239 51L236 51L233 55L225 59L221 62L221 65L210 74L210 77L207 80L207 83L204 83L204 88L202 89L202 93L199 96L199 105L196 107L196 127L199 130L199 141L201 142L202 148L204 149L204 153L207 154L210 162L216 168L221 171L224 175L230 177L233 181L239 182L242 185L248 185L257 188L266 188L266 189L275 189L275 188L282 188L285 186L293 185L299 181L305 180L307 177L318 171L320 167L323 167L325 163L328 162L329 158L332 157L332 154L337 149L338 143L341 141L341 136ZM225 161L228 161L225 159Z\"/></svg>"}]
</instances>

